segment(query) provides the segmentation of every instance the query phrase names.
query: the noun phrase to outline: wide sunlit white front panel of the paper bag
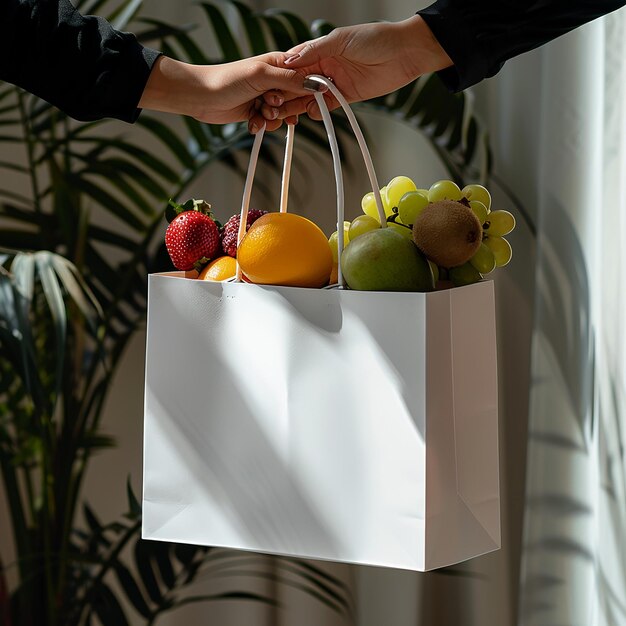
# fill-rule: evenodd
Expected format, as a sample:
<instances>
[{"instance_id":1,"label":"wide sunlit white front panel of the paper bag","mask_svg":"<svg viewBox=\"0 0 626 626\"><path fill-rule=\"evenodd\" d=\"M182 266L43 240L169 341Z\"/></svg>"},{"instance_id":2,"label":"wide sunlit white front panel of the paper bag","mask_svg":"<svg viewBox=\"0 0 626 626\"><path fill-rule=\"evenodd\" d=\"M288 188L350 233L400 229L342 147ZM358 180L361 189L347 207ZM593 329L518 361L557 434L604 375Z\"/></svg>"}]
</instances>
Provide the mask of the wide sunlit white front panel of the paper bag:
<instances>
[{"instance_id":1,"label":"wide sunlit white front panel of the paper bag","mask_svg":"<svg viewBox=\"0 0 626 626\"><path fill-rule=\"evenodd\" d=\"M152 276L149 303L144 537L424 569L424 294Z\"/></svg>"}]
</instances>

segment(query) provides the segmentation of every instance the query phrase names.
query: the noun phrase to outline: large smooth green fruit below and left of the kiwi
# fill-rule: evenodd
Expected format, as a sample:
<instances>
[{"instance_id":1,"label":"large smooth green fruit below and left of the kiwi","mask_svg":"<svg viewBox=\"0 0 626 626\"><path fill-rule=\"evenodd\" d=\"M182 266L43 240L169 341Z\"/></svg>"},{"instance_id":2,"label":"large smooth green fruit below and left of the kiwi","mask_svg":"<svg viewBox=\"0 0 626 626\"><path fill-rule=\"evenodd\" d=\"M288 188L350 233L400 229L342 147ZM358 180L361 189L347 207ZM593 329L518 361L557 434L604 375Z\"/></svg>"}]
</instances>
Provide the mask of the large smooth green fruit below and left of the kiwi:
<instances>
[{"instance_id":1,"label":"large smooth green fruit below and left of the kiwi","mask_svg":"<svg viewBox=\"0 0 626 626\"><path fill-rule=\"evenodd\" d=\"M432 291L433 273L417 246L391 228L378 228L351 241L341 255L350 289Z\"/></svg>"}]
</instances>

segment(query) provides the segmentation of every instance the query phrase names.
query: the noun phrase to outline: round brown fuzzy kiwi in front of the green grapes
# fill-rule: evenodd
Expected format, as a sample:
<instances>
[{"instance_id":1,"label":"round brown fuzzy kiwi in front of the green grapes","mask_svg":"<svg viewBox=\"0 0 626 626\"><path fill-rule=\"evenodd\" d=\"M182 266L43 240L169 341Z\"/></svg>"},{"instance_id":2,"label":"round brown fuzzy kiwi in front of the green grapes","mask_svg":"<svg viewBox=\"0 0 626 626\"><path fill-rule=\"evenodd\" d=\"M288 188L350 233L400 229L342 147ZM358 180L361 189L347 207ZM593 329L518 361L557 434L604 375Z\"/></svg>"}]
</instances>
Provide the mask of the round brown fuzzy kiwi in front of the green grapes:
<instances>
[{"instance_id":1,"label":"round brown fuzzy kiwi in front of the green grapes","mask_svg":"<svg viewBox=\"0 0 626 626\"><path fill-rule=\"evenodd\" d=\"M413 241L440 267L463 265L482 239L483 227L474 211L454 200L431 202L413 224Z\"/></svg>"}]
</instances>

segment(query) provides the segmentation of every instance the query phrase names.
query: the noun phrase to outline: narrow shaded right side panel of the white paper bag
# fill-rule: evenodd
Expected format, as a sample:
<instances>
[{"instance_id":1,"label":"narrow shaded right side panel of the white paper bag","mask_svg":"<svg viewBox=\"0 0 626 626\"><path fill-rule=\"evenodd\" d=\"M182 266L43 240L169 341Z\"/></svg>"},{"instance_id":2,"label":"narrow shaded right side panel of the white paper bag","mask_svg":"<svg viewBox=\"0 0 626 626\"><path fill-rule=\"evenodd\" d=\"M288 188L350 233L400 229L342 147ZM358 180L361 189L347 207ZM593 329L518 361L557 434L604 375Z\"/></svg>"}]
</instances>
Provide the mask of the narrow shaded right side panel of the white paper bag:
<instances>
[{"instance_id":1,"label":"narrow shaded right side panel of the white paper bag","mask_svg":"<svg viewBox=\"0 0 626 626\"><path fill-rule=\"evenodd\" d=\"M499 547L494 324L491 283L429 294L426 569Z\"/></svg>"}]
</instances>

